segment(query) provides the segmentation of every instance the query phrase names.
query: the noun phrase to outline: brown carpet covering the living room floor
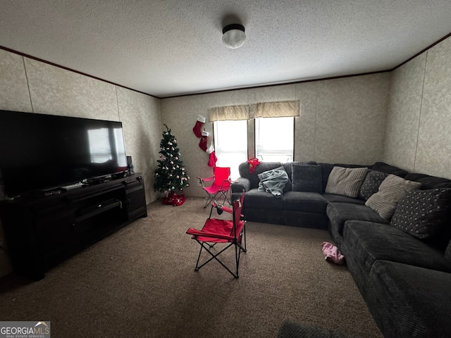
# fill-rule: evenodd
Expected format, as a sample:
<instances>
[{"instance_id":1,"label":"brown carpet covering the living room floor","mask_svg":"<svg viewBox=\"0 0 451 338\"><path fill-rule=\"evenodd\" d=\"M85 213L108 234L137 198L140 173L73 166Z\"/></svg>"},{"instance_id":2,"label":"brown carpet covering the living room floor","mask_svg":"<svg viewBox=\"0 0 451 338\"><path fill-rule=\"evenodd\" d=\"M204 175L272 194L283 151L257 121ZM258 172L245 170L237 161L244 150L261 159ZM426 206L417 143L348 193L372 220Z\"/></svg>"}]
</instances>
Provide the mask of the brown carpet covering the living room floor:
<instances>
[{"instance_id":1,"label":"brown carpet covering the living room floor","mask_svg":"<svg viewBox=\"0 0 451 338\"><path fill-rule=\"evenodd\" d=\"M347 267L324 261L327 231L249 222L239 279L215 261L194 272L185 231L204 224L204 201L150 204L43 280L4 277L0 320L50 320L53 338L276 337L286 319L381 337Z\"/></svg>"}]
</instances>

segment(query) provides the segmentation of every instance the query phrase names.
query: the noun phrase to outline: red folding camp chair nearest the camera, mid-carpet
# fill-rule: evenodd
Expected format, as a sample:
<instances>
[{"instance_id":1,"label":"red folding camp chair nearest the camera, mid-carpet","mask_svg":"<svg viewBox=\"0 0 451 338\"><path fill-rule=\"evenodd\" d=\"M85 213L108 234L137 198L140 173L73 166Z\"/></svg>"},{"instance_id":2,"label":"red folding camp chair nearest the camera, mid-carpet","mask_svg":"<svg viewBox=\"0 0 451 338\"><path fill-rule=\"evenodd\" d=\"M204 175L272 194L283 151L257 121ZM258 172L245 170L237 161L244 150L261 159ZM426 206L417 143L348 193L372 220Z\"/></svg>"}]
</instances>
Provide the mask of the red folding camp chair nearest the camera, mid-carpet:
<instances>
[{"instance_id":1,"label":"red folding camp chair nearest the camera, mid-carpet","mask_svg":"<svg viewBox=\"0 0 451 338\"><path fill-rule=\"evenodd\" d=\"M204 227L202 230L196 230L190 227L187 230L187 234L192 235L192 239L195 239L197 243L200 244L199 256L197 256L197 263L195 271L199 270L206 263L209 263L212 260L218 261L221 265L223 265L229 273L233 275L233 277L238 278L238 268L240 266L240 256L241 251L246 252L246 221L243 219L242 205L245 199L244 191L242 195L233 201L233 209L227 208L225 206L218 205L216 202L211 204L211 211L213 208L217 208L218 213L222 213L222 211L226 211L227 213L231 213L233 215L233 220L218 220L216 218L211 218L210 216L207 218ZM216 244L225 244L223 249L216 249ZM219 244L221 246L221 244ZM230 246L235 246L235 263L236 263L236 273L232 272L230 268L226 266L223 262L218 259L218 256L226 251ZM211 258L204 261L201 265L199 265L200 257L202 251L205 250L211 255Z\"/></svg>"}]
</instances>

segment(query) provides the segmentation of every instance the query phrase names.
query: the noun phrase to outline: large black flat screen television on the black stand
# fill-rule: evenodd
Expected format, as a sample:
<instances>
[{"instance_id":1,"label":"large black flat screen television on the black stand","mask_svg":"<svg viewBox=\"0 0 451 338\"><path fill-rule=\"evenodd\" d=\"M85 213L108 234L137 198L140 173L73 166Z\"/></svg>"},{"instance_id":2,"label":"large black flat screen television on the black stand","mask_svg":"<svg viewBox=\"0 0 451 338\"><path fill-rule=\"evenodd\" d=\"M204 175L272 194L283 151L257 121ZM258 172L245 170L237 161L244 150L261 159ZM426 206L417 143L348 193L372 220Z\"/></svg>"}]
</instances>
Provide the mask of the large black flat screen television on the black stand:
<instances>
[{"instance_id":1,"label":"large black flat screen television on the black stand","mask_svg":"<svg viewBox=\"0 0 451 338\"><path fill-rule=\"evenodd\" d=\"M0 170L9 197L124 173L122 123L0 110Z\"/></svg>"}]
</instances>

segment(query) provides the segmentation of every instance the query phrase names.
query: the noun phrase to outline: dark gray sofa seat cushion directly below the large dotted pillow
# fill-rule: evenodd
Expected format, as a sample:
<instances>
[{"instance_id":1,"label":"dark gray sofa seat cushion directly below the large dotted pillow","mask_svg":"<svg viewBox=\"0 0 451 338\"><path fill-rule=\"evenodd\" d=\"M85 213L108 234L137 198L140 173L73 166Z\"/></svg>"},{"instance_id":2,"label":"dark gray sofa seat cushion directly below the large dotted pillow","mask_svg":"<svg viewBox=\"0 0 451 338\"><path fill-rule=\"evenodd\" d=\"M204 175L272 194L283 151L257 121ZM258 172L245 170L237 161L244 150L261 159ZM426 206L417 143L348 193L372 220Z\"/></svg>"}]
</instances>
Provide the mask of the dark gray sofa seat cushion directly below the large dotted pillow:
<instances>
[{"instance_id":1,"label":"dark gray sofa seat cushion directly below the large dotted pillow","mask_svg":"<svg viewBox=\"0 0 451 338\"><path fill-rule=\"evenodd\" d=\"M385 260L451 273L443 252L389 224L348 220L343 237L354 256L369 274L375 261Z\"/></svg>"}]
</instances>

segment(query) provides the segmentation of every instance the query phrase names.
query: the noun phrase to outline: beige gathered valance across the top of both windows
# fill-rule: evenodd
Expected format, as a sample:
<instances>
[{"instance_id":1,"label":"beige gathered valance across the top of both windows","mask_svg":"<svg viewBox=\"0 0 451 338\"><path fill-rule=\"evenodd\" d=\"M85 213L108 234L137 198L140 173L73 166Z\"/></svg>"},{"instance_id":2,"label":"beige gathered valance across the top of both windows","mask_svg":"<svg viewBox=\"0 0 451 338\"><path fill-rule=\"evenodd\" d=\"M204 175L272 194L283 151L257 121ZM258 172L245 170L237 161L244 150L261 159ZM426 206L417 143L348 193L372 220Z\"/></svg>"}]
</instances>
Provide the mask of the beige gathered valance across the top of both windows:
<instances>
[{"instance_id":1,"label":"beige gathered valance across the top of both windows","mask_svg":"<svg viewBox=\"0 0 451 338\"><path fill-rule=\"evenodd\" d=\"M299 101L259 102L257 104L209 108L210 122L288 116L299 116Z\"/></svg>"}]
</instances>

